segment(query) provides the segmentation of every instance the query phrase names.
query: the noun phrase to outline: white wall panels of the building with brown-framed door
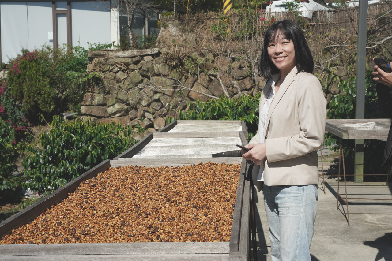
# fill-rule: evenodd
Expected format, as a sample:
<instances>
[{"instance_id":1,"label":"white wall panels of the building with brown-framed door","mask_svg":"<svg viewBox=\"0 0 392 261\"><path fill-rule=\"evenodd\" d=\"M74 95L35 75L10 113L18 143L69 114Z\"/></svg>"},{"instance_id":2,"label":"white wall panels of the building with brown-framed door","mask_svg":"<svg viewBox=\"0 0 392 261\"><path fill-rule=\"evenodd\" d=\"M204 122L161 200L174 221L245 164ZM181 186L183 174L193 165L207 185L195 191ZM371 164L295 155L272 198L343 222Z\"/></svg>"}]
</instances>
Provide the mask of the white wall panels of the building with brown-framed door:
<instances>
[{"instance_id":1,"label":"white wall panels of the building with brown-framed door","mask_svg":"<svg viewBox=\"0 0 392 261\"><path fill-rule=\"evenodd\" d=\"M65 3L64 8L62 4ZM56 1L58 9L66 9L67 2ZM60 7L60 8L59 8ZM67 32L65 15L60 16L58 26L59 44L66 43ZM64 16L64 17L62 17ZM7 63L9 59L21 54L22 49L41 49L42 45L53 47L52 2L0 2L1 56ZM118 30L118 29L117 29ZM112 41L110 2L71 2L71 33L73 46L88 48L90 44L105 44ZM60 35L61 34L61 35ZM118 31L114 32L118 34Z\"/></svg>"}]
</instances>

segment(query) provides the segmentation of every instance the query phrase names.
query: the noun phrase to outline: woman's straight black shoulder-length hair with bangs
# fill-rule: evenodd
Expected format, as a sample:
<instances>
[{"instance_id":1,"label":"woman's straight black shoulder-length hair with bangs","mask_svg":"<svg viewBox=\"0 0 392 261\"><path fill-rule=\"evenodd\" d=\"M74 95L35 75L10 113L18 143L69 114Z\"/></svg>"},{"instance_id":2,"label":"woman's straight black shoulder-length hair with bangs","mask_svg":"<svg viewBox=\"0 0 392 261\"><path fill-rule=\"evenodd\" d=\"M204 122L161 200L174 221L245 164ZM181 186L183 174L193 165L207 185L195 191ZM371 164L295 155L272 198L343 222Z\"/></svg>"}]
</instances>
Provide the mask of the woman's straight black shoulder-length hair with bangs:
<instances>
[{"instance_id":1,"label":"woman's straight black shoulder-length hair with bangs","mask_svg":"<svg viewBox=\"0 0 392 261\"><path fill-rule=\"evenodd\" d=\"M282 34L287 40L290 40L294 44L295 57L297 60L298 72L313 72L313 56L310 53L309 45L306 42L305 36L301 31L301 28L292 20L285 19L282 21L275 22L272 24L264 36L264 43L261 49L260 56L260 74L264 78L271 79L272 75L277 74L279 69L276 68L274 63L271 62L268 57L267 47L271 40Z\"/></svg>"}]
</instances>

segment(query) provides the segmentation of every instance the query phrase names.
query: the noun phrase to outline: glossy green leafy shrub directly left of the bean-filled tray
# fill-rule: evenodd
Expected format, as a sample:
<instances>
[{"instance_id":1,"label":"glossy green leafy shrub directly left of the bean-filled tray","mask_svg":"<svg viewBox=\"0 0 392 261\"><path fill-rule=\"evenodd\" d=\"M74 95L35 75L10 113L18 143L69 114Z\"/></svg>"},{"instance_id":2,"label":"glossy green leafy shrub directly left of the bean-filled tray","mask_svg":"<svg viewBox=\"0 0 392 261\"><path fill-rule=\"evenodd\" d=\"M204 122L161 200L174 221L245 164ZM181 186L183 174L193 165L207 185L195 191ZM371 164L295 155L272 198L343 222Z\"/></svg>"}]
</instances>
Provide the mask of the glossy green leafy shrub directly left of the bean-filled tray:
<instances>
[{"instance_id":1,"label":"glossy green leafy shrub directly left of the bean-filled tray","mask_svg":"<svg viewBox=\"0 0 392 261\"><path fill-rule=\"evenodd\" d=\"M49 194L105 159L112 159L136 143L133 130L115 123L53 117L50 130L27 147L22 163L25 189Z\"/></svg>"}]
</instances>

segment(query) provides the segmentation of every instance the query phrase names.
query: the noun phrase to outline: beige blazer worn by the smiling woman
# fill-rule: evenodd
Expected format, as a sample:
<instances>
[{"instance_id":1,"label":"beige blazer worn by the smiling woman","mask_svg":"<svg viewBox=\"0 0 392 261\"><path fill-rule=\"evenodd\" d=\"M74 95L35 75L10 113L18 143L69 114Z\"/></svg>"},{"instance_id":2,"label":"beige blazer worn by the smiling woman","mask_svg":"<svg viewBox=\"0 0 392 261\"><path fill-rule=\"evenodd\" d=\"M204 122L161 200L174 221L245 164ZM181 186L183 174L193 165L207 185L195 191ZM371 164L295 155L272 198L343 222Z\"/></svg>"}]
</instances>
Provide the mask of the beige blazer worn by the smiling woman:
<instances>
[{"instance_id":1,"label":"beige blazer worn by the smiling woman","mask_svg":"<svg viewBox=\"0 0 392 261\"><path fill-rule=\"evenodd\" d=\"M270 82L267 82L260 97L259 110L270 90ZM280 85L267 114L265 185L318 183L316 150L323 145L326 118L327 101L318 78L307 72L297 74L294 67ZM259 143L258 132L249 143ZM257 181L259 169L259 165L252 169L252 179L258 191L262 189L261 181Z\"/></svg>"}]
</instances>

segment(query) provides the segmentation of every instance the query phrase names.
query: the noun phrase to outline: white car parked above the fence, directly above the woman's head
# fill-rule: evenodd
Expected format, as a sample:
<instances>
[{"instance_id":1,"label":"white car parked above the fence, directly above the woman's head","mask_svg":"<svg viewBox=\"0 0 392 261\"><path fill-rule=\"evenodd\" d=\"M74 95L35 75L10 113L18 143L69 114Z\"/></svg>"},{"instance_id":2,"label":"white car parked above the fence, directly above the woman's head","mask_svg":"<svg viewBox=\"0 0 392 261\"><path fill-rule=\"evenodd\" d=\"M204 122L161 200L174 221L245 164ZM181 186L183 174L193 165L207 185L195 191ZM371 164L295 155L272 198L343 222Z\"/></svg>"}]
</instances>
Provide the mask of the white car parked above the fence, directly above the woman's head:
<instances>
[{"instance_id":1,"label":"white car parked above the fence, directly above the woman's head","mask_svg":"<svg viewBox=\"0 0 392 261\"><path fill-rule=\"evenodd\" d=\"M285 12L288 11L287 2L290 0L269 0L267 2L266 12ZM300 0L298 11L302 13L303 17L312 18L313 11L329 10L324 0Z\"/></svg>"}]
</instances>

